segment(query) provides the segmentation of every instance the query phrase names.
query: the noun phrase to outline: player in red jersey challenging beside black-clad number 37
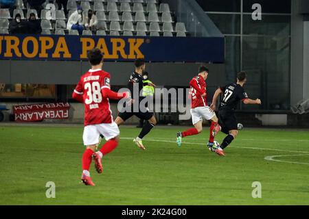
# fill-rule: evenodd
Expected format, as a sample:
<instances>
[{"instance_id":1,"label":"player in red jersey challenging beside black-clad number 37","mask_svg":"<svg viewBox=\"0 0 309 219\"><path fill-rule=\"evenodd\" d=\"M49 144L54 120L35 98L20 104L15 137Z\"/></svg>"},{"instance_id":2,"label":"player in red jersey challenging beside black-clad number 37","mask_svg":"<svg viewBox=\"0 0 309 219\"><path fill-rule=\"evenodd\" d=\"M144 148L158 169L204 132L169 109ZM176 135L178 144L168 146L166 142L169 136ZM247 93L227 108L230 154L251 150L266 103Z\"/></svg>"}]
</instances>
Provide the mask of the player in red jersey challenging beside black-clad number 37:
<instances>
[{"instance_id":1,"label":"player in red jersey challenging beside black-clad number 37","mask_svg":"<svg viewBox=\"0 0 309 219\"><path fill-rule=\"evenodd\" d=\"M214 136L220 131L220 125L218 125L218 118L213 110L207 105L207 92L205 80L208 77L209 70L206 66L200 66L198 68L198 75L190 81L191 90L191 116L194 128L187 131L176 133L176 142L181 146L182 138L186 136L193 136L201 133L203 130L203 118L211 120L209 142L207 146L214 151Z\"/></svg>"}]
</instances>

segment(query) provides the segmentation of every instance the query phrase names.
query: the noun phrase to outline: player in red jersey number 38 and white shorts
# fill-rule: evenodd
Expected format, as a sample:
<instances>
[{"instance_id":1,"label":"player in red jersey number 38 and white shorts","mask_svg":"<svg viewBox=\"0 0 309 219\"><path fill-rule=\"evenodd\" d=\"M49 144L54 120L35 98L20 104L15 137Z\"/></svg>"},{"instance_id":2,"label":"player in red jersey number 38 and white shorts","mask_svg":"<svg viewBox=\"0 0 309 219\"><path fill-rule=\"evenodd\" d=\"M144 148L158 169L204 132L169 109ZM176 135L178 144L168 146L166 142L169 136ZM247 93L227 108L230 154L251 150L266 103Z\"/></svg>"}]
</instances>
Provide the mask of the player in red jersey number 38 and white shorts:
<instances>
[{"instance_id":1,"label":"player in red jersey number 38 and white shorts","mask_svg":"<svg viewBox=\"0 0 309 219\"><path fill-rule=\"evenodd\" d=\"M128 98L128 93L111 91L110 75L102 70L103 55L100 49L91 49L87 53L91 69L80 77L72 97L84 103L84 133L82 139L86 151L82 155L82 182L95 185L90 177L90 164L93 159L95 169L101 173L101 159L118 145L119 129L113 121L109 99ZM95 153L102 134L106 140L100 151Z\"/></svg>"}]
</instances>

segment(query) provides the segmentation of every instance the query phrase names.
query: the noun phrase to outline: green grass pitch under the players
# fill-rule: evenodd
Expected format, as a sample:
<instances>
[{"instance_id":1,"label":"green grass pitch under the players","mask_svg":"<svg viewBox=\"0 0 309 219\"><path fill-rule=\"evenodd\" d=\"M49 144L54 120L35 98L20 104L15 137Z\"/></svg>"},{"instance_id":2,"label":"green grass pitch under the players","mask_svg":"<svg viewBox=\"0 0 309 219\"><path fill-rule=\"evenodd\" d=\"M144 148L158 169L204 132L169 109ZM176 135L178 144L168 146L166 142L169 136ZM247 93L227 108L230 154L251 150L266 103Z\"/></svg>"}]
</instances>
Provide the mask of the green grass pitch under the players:
<instances>
[{"instance_id":1,"label":"green grass pitch under the players","mask_svg":"<svg viewBox=\"0 0 309 219\"><path fill-rule=\"evenodd\" d=\"M184 129L155 127L141 151L133 143L140 129L121 127L102 175L91 164L96 186L88 187L80 184L82 126L1 126L0 204L309 205L309 131L244 129L219 157L205 145L209 127L177 146ZM56 198L45 196L48 181ZM254 181L262 198L251 195Z\"/></svg>"}]
</instances>

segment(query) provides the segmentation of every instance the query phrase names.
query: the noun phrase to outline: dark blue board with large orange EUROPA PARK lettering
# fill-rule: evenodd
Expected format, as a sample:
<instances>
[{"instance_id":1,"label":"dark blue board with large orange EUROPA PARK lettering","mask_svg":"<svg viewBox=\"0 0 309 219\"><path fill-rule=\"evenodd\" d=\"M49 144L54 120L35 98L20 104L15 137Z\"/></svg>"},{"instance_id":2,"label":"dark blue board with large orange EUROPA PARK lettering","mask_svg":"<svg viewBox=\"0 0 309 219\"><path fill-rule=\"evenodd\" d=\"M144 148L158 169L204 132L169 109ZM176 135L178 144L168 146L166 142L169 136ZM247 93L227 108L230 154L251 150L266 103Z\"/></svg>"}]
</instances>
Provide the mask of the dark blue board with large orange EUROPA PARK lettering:
<instances>
[{"instance_id":1,"label":"dark blue board with large orange EUROPA PARK lettering","mask_svg":"<svg viewBox=\"0 0 309 219\"><path fill-rule=\"evenodd\" d=\"M106 61L223 62L224 38L0 35L2 60L87 60L98 47Z\"/></svg>"}]
</instances>

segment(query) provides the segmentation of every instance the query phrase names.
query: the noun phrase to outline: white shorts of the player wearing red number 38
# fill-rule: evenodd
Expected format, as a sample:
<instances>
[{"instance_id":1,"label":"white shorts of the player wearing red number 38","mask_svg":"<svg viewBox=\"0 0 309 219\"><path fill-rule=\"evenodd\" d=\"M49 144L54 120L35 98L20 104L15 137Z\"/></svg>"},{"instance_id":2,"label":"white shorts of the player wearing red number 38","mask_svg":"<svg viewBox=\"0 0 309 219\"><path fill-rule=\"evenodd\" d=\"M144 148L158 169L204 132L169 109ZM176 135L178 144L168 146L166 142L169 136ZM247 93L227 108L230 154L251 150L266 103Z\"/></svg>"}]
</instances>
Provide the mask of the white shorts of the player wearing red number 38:
<instances>
[{"instance_id":1,"label":"white shorts of the player wearing red number 38","mask_svg":"<svg viewBox=\"0 0 309 219\"><path fill-rule=\"evenodd\" d=\"M106 141L119 136L119 128L114 123L102 123L97 125L87 125L84 127L82 140L84 145L94 145L99 143L100 134L102 134Z\"/></svg>"}]
</instances>

